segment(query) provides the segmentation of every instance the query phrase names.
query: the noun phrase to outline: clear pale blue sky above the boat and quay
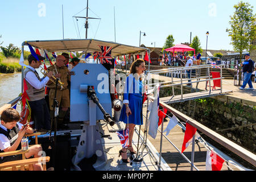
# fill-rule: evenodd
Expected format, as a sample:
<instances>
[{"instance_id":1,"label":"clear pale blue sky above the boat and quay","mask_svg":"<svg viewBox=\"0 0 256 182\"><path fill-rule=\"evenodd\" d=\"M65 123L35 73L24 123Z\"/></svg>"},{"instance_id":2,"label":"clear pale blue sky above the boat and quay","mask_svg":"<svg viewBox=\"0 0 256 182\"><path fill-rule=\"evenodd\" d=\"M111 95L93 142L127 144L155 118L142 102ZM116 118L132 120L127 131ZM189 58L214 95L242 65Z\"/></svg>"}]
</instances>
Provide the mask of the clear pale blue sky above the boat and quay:
<instances>
[{"instance_id":1,"label":"clear pale blue sky above the boat and quay","mask_svg":"<svg viewBox=\"0 0 256 182\"><path fill-rule=\"evenodd\" d=\"M234 13L234 5L239 1L218 0L89 0L88 16L101 18L90 19L88 38L112 41L131 46L139 46L139 31L145 32L141 36L141 43L147 47L163 47L168 35L172 34L175 44L189 42L198 36L201 48L229 49L230 38L226 32L230 15ZM254 6L256 1L249 2ZM23 0L1 1L0 4L0 35L2 46L13 43L21 47L25 40L62 39L62 9L64 7L64 39L85 38L84 19L72 18L86 16L86 0L49 1ZM115 36L114 36L114 7L115 7ZM79 26L79 32L77 30ZM98 29L97 29L98 28ZM153 43L151 45L151 43Z\"/></svg>"}]
</instances>

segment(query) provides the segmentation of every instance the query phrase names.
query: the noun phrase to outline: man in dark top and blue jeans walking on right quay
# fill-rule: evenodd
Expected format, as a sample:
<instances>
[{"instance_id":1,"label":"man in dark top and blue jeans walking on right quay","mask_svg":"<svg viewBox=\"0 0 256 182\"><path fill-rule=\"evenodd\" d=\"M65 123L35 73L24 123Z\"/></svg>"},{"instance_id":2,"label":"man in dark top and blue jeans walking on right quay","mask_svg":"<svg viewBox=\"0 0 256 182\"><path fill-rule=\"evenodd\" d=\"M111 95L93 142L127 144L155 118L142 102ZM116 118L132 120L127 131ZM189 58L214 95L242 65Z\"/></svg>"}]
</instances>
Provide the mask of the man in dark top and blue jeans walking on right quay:
<instances>
[{"instance_id":1,"label":"man in dark top and blue jeans walking on right quay","mask_svg":"<svg viewBox=\"0 0 256 182\"><path fill-rule=\"evenodd\" d=\"M249 90L254 90L253 84L251 83L251 73L254 71L254 62L250 59L249 53L246 53L245 55L245 61L241 63L242 66L242 72L243 72L243 85L240 86L240 90L245 89L245 86L249 85Z\"/></svg>"}]
</instances>

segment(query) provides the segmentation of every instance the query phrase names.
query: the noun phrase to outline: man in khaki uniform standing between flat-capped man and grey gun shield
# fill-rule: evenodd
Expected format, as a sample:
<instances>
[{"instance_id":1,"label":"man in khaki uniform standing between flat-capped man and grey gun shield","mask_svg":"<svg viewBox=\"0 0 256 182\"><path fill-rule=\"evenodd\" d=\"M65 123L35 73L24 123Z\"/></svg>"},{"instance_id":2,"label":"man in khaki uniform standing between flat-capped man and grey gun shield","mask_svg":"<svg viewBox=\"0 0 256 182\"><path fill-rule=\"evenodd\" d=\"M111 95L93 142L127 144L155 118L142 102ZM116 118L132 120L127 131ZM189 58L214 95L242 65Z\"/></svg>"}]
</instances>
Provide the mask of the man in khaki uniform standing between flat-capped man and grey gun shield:
<instances>
[{"instance_id":1,"label":"man in khaki uniform standing between flat-capped man and grey gun shield","mask_svg":"<svg viewBox=\"0 0 256 182\"><path fill-rule=\"evenodd\" d=\"M59 55L56 57L56 64L51 65L51 67L47 68L47 71L52 71L55 73L56 78L60 78L60 81L63 82L63 89L61 90L60 84L57 86L56 92L56 100L59 102L59 117L58 117L58 128L65 127L63 123L63 119L65 117L65 113L70 106L69 101L69 91L68 91L68 80L71 80L71 76L68 75L68 68L65 67L65 57L63 55ZM55 97L55 83L49 81L47 86L50 88L49 90L49 108L51 110L51 118L54 117L54 108L53 102Z\"/></svg>"}]
</instances>

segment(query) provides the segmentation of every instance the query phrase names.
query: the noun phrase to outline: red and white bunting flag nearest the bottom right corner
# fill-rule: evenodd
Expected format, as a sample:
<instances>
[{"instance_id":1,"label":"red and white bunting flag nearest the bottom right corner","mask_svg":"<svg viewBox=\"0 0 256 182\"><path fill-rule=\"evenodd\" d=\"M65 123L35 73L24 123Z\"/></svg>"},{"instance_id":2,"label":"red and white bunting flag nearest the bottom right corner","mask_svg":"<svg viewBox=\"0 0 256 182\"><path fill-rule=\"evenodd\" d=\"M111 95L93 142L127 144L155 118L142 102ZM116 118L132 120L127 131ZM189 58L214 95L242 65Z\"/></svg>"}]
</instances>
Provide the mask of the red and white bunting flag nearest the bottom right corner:
<instances>
[{"instance_id":1,"label":"red and white bunting flag nearest the bottom right corner","mask_svg":"<svg viewBox=\"0 0 256 182\"><path fill-rule=\"evenodd\" d=\"M206 171L220 171L224 162L225 160L218 156L216 152L207 150Z\"/></svg>"}]
</instances>

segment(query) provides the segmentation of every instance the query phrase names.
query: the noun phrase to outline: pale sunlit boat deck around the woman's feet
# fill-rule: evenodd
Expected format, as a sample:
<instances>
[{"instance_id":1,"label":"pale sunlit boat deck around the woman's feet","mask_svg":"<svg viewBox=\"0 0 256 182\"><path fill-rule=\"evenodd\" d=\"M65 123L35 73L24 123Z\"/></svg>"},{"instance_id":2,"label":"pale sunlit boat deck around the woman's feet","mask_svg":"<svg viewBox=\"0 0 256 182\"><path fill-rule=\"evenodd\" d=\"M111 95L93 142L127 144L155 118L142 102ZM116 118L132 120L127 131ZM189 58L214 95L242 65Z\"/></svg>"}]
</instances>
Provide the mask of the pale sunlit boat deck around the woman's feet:
<instances>
[{"instance_id":1,"label":"pale sunlit boat deck around the woman's feet","mask_svg":"<svg viewBox=\"0 0 256 182\"><path fill-rule=\"evenodd\" d=\"M104 145L104 151L106 154L107 162L104 167L99 168L97 170L104 170L104 171L158 171L158 170L171 170L171 168L168 167L166 162L162 160L162 169L159 168L158 165L156 165L154 157L151 155L159 155L158 151L154 148L154 146L148 142L148 148L150 148L150 152L148 150L143 150L140 157L143 158L142 162L133 162L131 163L123 163L121 156L119 155L119 150L122 149L120 140L115 134L115 131L122 130L125 128L125 124L123 122L116 122L114 126L106 125L105 122L101 122L101 127L104 132L104 135L109 137L102 138L101 142ZM110 131L110 132L109 132ZM138 134L137 130L134 132L133 137L133 147L136 148L138 144ZM101 131L102 133L102 131ZM139 146L141 146L142 140L139 140ZM137 151L137 150L136 150ZM141 150L140 150L141 151ZM127 156L130 156L129 151L127 152Z\"/></svg>"}]
</instances>

